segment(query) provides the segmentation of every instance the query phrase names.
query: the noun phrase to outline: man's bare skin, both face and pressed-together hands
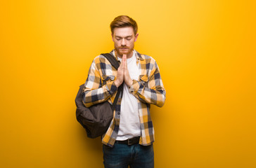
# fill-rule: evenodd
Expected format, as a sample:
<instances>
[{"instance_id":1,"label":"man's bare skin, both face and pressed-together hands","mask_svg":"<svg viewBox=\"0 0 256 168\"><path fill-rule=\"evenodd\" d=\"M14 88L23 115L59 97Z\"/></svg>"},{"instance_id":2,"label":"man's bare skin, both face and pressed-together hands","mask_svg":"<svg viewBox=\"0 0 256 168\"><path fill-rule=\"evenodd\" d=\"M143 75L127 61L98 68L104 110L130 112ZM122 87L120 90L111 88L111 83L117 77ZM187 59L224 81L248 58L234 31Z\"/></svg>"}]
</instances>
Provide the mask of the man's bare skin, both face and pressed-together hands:
<instances>
[{"instance_id":1,"label":"man's bare skin, both face and pressed-together hands","mask_svg":"<svg viewBox=\"0 0 256 168\"><path fill-rule=\"evenodd\" d=\"M139 34L134 34L132 27L117 27L111 34L114 45L115 55L122 58L122 62L117 69L117 78L115 85L119 87L123 82L131 87L133 81L127 69L127 58L132 57L134 50L134 42L137 40Z\"/></svg>"}]
</instances>

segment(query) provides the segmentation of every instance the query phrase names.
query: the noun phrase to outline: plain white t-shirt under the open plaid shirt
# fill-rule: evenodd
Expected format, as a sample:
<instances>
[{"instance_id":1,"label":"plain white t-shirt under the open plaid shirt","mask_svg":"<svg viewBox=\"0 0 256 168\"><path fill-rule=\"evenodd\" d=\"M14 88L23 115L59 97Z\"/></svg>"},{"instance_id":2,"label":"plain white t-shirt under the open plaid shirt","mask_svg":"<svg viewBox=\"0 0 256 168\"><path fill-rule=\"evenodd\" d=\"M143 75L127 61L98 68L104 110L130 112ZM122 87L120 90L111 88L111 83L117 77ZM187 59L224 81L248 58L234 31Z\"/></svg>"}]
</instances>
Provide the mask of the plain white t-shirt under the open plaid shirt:
<instances>
[{"instance_id":1,"label":"plain white t-shirt under the open plaid shirt","mask_svg":"<svg viewBox=\"0 0 256 168\"><path fill-rule=\"evenodd\" d=\"M122 58L118 57L118 59L122 62ZM139 80L139 67L136 64L134 51L132 57L127 58L127 69L132 79ZM128 86L124 83L117 140L122 141L139 136L141 136L141 125L139 121L138 100L129 92Z\"/></svg>"}]
</instances>

